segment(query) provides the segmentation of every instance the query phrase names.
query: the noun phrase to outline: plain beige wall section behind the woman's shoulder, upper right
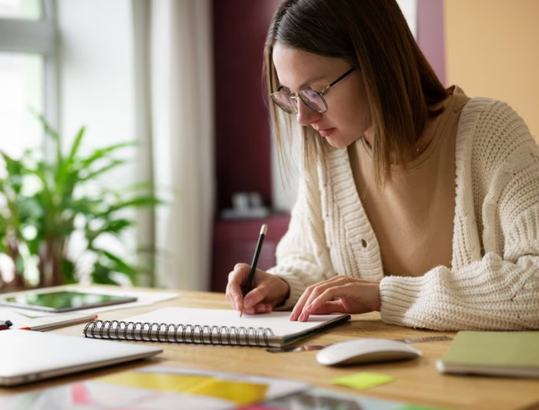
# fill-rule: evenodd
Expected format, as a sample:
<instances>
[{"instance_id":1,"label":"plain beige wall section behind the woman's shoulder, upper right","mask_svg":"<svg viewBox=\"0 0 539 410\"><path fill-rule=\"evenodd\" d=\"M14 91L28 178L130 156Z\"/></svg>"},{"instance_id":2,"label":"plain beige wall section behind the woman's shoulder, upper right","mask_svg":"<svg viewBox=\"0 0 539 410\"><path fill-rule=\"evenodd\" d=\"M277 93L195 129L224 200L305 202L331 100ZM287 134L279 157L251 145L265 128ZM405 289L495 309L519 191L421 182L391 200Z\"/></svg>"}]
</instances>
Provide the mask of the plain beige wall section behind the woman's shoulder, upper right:
<instances>
[{"instance_id":1,"label":"plain beige wall section behind the woman's shoulder, upper right","mask_svg":"<svg viewBox=\"0 0 539 410\"><path fill-rule=\"evenodd\" d=\"M510 104L539 143L539 0L445 0L446 82Z\"/></svg>"}]
</instances>

